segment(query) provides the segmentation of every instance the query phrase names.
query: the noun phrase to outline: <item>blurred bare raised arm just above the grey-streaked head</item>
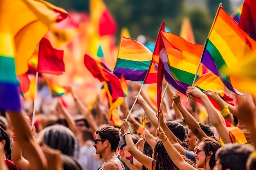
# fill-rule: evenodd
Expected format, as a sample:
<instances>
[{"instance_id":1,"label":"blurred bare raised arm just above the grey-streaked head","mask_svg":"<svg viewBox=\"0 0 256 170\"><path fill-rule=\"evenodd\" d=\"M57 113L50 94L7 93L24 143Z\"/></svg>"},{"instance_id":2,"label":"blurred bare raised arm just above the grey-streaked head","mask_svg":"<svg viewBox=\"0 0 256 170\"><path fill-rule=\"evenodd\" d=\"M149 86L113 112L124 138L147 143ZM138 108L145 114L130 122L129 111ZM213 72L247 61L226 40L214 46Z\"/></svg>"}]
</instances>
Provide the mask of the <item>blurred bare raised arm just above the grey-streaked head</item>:
<instances>
[{"instance_id":1,"label":"blurred bare raised arm just above the grey-streaked head","mask_svg":"<svg viewBox=\"0 0 256 170\"><path fill-rule=\"evenodd\" d=\"M64 117L67 121L68 128L74 133L74 135L76 135L77 134L76 123L75 123L73 117L68 112L68 110L63 106L60 99L58 100L58 106L61 109L61 113L64 115Z\"/></svg>"}]
</instances>

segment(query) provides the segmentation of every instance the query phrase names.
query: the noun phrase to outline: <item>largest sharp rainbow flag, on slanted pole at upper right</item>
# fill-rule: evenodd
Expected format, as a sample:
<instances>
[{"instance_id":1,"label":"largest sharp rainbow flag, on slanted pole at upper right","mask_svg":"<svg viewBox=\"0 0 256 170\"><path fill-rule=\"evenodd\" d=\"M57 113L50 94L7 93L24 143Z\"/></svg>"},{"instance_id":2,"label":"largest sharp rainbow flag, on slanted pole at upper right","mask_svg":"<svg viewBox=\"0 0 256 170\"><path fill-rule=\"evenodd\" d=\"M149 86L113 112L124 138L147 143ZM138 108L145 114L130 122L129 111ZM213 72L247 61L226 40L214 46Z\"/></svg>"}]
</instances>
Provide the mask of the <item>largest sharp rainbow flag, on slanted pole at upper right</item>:
<instances>
[{"instance_id":1,"label":"largest sharp rainbow flag, on slanted pole at upper right","mask_svg":"<svg viewBox=\"0 0 256 170\"><path fill-rule=\"evenodd\" d=\"M239 65L245 57L253 55L254 49L256 42L220 7L204 46L202 63L218 75L230 91L243 95L233 87L235 84L223 70Z\"/></svg>"}]
</instances>

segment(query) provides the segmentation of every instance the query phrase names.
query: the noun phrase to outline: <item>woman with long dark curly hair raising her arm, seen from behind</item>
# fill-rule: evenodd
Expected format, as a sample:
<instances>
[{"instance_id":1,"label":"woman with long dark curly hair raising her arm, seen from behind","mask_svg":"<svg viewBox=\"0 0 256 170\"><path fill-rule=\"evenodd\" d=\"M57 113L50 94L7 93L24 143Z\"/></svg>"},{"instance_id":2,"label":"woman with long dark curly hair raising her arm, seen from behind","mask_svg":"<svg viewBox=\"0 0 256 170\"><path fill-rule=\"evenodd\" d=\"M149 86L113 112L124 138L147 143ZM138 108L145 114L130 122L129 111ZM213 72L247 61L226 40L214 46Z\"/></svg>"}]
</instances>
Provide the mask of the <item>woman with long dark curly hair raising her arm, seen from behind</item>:
<instances>
[{"instance_id":1,"label":"woman with long dark curly hair raising her arm, seen from behind","mask_svg":"<svg viewBox=\"0 0 256 170\"><path fill-rule=\"evenodd\" d=\"M177 166L175 166L175 164L173 163L171 158L168 156L168 153L167 153L166 149L164 148L162 141L157 141L157 144L153 150L152 157L148 157L135 147L135 145L132 141L131 134L129 132L128 122L125 119L124 119L123 123L121 124L121 128L122 128L122 130L124 130L124 137L126 139L126 145L127 145L129 152L141 164L146 166L148 168L148 170L179 170L179 168ZM141 144L144 144L144 143L141 142ZM195 164L192 161L188 160L185 157L184 157L184 159L189 164L192 164L195 167Z\"/></svg>"}]
</instances>

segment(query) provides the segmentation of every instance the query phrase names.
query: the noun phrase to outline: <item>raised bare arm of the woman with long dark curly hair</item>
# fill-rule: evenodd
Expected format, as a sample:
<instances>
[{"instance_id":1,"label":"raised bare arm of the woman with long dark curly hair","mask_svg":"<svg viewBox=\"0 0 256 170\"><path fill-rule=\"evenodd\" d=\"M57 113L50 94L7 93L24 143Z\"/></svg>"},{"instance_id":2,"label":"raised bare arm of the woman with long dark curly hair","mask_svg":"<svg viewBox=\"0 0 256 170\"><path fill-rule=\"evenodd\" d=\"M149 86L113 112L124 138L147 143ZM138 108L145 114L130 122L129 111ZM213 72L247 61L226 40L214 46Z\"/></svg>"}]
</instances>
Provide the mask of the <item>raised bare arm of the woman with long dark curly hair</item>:
<instances>
[{"instance_id":1,"label":"raised bare arm of the woman with long dark curly hair","mask_svg":"<svg viewBox=\"0 0 256 170\"><path fill-rule=\"evenodd\" d=\"M144 155L141 151L139 151L135 147L135 145L132 141L132 136L130 135L129 125L128 125L128 122L126 121L126 119L124 119L123 123L121 124L121 128L122 128L122 130L124 130L126 146L129 150L130 154L132 154L132 156L135 157L135 159L137 159L140 163L142 163L144 166L146 166L149 170L153 170L152 162L155 160L151 157Z\"/></svg>"}]
</instances>

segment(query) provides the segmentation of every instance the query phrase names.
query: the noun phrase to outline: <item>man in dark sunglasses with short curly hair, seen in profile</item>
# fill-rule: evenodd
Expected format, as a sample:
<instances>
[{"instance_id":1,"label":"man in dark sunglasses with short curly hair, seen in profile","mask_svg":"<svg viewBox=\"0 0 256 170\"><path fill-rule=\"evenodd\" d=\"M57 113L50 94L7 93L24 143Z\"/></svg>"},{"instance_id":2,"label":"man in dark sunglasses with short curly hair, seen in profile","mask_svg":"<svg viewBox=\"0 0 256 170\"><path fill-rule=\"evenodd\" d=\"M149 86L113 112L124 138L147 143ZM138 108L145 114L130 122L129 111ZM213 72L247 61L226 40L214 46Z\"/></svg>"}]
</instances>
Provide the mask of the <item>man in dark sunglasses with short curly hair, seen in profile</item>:
<instances>
[{"instance_id":1,"label":"man in dark sunglasses with short curly hair, seen in profile","mask_svg":"<svg viewBox=\"0 0 256 170\"><path fill-rule=\"evenodd\" d=\"M96 130L94 148L96 154L103 157L104 163L99 170L125 170L123 163L117 158L117 146L120 141L119 130L106 126Z\"/></svg>"}]
</instances>

